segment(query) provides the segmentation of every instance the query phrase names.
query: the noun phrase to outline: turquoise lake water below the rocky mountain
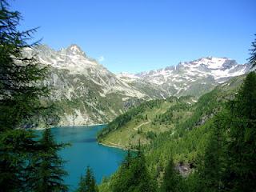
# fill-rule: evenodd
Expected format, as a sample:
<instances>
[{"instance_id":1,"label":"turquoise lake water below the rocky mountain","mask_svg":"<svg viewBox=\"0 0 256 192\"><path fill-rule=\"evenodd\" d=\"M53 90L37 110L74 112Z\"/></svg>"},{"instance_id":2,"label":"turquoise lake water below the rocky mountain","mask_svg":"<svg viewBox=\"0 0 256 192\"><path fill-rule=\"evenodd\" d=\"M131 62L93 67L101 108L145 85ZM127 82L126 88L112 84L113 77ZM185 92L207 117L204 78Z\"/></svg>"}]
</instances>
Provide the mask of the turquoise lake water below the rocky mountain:
<instances>
[{"instance_id":1,"label":"turquoise lake water below the rocky mountain","mask_svg":"<svg viewBox=\"0 0 256 192\"><path fill-rule=\"evenodd\" d=\"M70 190L76 189L81 175L85 174L86 166L94 171L97 182L103 176L110 176L117 169L126 151L99 145L96 134L104 126L66 126L52 128L57 142L70 142L72 146L60 152L66 160L65 170L69 176L65 178Z\"/></svg>"}]
</instances>

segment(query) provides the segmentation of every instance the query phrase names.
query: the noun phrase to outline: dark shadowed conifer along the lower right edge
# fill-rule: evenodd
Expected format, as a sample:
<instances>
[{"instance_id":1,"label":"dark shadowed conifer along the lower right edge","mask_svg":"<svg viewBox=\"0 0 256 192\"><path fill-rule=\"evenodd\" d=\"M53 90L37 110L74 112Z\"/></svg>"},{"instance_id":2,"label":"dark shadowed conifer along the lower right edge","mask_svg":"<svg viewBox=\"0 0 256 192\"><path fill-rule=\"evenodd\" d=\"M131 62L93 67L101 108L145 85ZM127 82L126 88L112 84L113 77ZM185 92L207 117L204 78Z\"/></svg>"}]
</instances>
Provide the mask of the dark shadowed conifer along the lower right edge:
<instances>
[{"instance_id":1,"label":"dark shadowed conifer along the lower right edge","mask_svg":"<svg viewBox=\"0 0 256 192\"><path fill-rule=\"evenodd\" d=\"M256 74L247 74L234 101L230 122L225 182L229 191L256 189Z\"/></svg>"}]
</instances>

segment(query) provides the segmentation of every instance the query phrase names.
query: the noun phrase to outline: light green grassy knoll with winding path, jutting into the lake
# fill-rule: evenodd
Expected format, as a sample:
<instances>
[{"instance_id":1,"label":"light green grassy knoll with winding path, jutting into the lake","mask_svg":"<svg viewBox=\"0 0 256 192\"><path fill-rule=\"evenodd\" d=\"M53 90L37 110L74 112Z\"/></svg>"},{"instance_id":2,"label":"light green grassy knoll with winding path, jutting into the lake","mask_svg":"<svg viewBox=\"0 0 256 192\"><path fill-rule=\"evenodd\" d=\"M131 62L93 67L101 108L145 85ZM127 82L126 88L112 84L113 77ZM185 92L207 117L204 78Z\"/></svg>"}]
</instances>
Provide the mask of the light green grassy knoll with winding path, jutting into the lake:
<instances>
[{"instance_id":1,"label":"light green grassy knoll with winding path, jutting into the lake","mask_svg":"<svg viewBox=\"0 0 256 192\"><path fill-rule=\"evenodd\" d=\"M120 116L119 118L122 119L130 116L128 121L122 123L121 126L116 126L120 124L118 122L122 121L116 118L112 124L106 127L106 130L110 130L110 132L103 135L99 134L98 140L102 144L120 148L135 147L138 142L150 143L157 134L174 129L174 122L169 123L163 120L164 117L170 117L171 109L176 109L181 105L187 108L187 110L172 111L173 119L182 121L190 116L189 103L192 100L193 98L190 97L171 97L165 100L145 102L142 106L131 109Z\"/></svg>"}]
</instances>

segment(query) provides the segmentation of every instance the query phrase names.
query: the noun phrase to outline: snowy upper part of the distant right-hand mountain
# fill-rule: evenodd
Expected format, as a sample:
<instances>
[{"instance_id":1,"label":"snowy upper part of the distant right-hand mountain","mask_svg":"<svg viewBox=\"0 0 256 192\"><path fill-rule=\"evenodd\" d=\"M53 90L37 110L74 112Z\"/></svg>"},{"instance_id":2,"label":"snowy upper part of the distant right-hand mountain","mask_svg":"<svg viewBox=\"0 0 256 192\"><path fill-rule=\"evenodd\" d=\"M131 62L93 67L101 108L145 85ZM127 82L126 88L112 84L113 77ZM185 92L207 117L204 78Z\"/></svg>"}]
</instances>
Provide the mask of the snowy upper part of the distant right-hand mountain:
<instances>
[{"instance_id":1,"label":"snowy upper part of the distant right-hand mountain","mask_svg":"<svg viewBox=\"0 0 256 192\"><path fill-rule=\"evenodd\" d=\"M180 62L177 66L142 72L135 74L135 76L162 85L166 82L182 82L182 78L195 82L198 78L212 77L218 81L220 78L245 74L248 69L247 65L239 65L229 58L208 57L199 58L192 62ZM129 76L126 74L126 77Z\"/></svg>"}]
</instances>

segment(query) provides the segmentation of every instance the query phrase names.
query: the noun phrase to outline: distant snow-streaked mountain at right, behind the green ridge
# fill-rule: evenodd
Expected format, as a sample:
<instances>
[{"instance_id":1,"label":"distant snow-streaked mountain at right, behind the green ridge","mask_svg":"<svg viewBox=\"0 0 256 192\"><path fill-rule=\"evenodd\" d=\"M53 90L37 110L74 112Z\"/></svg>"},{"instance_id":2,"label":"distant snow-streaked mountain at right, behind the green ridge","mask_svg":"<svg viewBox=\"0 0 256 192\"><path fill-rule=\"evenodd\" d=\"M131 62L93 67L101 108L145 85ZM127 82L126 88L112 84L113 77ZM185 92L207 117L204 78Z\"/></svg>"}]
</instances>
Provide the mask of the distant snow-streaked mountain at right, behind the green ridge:
<instances>
[{"instance_id":1,"label":"distant snow-streaked mountain at right, behind the green ridge","mask_svg":"<svg viewBox=\"0 0 256 192\"><path fill-rule=\"evenodd\" d=\"M169 96L199 97L213 90L219 83L245 74L249 70L249 65L240 65L229 58L208 57L139 74L118 74L118 77L127 83L133 82L137 85L142 82L151 82Z\"/></svg>"}]
</instances>

